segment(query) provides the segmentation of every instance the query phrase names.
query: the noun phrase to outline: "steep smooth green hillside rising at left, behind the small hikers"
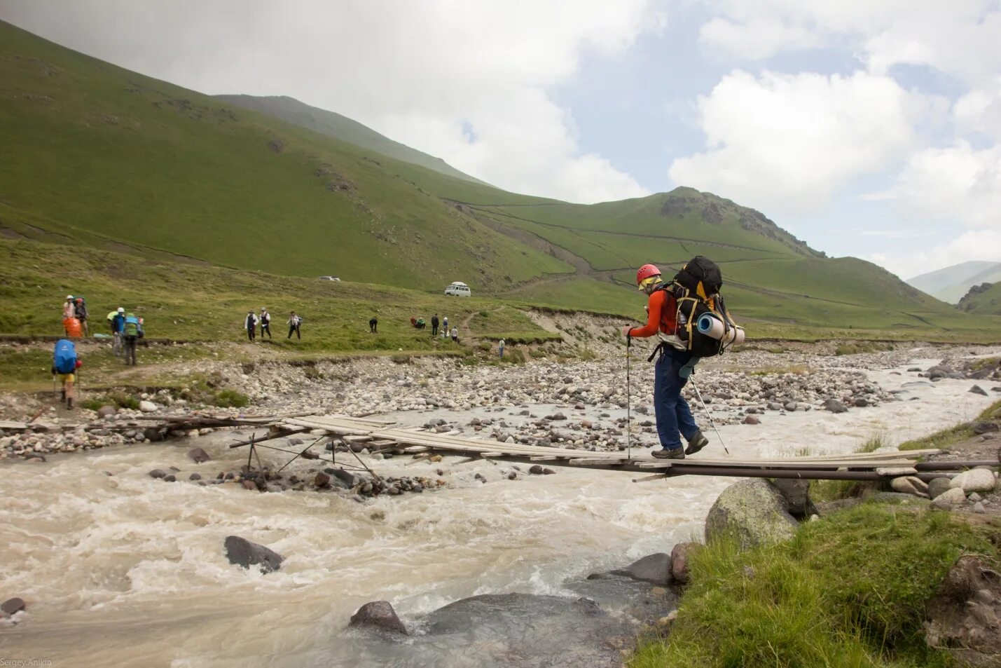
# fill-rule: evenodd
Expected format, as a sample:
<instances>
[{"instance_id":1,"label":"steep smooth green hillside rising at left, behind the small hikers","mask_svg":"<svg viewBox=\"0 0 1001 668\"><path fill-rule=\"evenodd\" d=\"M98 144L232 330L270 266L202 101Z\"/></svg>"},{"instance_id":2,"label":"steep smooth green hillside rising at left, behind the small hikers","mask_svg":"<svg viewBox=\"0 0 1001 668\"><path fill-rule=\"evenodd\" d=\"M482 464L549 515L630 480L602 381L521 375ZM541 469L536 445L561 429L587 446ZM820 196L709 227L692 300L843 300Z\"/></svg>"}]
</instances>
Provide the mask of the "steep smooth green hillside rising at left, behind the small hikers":
<instances>
[{"instance_id":1,"label":"steep smooth green hillside rising at left, behind the small hikers","mask_svg":"<svg viewBox=\"0 0 1001 668\"><path fill-rule=\"evenodd\" d=\"M419 167L8 24L0 44L0 224L17 233L420 287L570 268L398 175Z\"/></svg>"}]
</instances>

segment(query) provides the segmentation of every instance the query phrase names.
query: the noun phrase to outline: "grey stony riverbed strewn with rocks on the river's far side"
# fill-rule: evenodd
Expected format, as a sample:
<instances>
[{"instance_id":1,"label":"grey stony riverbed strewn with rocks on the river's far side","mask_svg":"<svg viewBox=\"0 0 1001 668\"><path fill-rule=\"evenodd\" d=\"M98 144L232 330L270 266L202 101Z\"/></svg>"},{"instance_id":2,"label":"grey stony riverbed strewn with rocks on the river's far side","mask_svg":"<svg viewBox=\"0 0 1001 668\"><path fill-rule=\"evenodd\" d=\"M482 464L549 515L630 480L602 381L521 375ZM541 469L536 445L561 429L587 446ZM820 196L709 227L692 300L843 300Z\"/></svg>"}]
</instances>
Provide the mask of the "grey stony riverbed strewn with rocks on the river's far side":
<instances>
[{"instance_id":1,"label":"grey stony riverbed strewn with rocks on the river's far side","mask_svg":"<svg viewBox=\"0 0 1001 668\"><path fill-rule=\"evenodd\" d=\"M657 445L649 408L653 366L646 363L641 347L634 351L631 393L627 392L623 351L611 345L600 346L597 358L587 362L541 359L523 365L469 366L433 358L413 358L403 364L368 359L318 361L308 366L208 363L202 371L213 387L239 392L252 402L250 408L242 410L212 409L215 414L419 414L426 416L422 424L440 432L457 431L536 446L625 450L628 445ZM911 377L901 387L884 388L867 376L867 372L906 365L916 355L924 358L925 364L895 372ZM971 347L915 350L902 346L896 351L851 356L748 350L701 363L685 394L693 412L710 412L717 425L755 425L767 421L767 416L788 413L865 410L906 401L913 396L909 388L943 379L969 379L974 381L971 392L1001 398L997 365L977 366L987 355L989 350ZM190 389L184 387L145 392L136 396L141 410L109 407L102 415L84 409L61 416L46 406L51 402L47 396L7 396L0 400L0 416L4 418L24 420L41 412L37 422L42 424L82 425L104 420L108 429L2 434L0 458L203 436L209 432L151 432L139 426L112 429L142 413L186 414L198 408L183 399L189 395ZM630 396L634 423L633 438L628 441L626 409Z\"/></svg>"}]
</instances>

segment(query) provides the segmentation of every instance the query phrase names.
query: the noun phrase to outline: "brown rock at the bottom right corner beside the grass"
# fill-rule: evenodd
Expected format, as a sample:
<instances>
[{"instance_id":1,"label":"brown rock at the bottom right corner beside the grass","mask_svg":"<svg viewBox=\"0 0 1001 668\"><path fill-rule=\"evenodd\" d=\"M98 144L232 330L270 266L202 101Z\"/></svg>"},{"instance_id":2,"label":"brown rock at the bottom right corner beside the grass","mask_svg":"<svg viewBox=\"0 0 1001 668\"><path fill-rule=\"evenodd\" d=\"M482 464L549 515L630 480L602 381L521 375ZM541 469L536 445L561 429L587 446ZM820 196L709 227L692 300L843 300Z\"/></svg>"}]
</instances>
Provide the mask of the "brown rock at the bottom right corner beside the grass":
<instances>
[{"instance_id":1,"label":"brown rock at the bottom right corner beside the grass","mask_svg":"<svg viewBox=\"0 0 1001 668\"><path fill-rule=\"evenodd\" d=\"M925 607L925 642L960 665L1001 665L1001 575L979 557L960 557Z\"/></svg>"}]
</instances>

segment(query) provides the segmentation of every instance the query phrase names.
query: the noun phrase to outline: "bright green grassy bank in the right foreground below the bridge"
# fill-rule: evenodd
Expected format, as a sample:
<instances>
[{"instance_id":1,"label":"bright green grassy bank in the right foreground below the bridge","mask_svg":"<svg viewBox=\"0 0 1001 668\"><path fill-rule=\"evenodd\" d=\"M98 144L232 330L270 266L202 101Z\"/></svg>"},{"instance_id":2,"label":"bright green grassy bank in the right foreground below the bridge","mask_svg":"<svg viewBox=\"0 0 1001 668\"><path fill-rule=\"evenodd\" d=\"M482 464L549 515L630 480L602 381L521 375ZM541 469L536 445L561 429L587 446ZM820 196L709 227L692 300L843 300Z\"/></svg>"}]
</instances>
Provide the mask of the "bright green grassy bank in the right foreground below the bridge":
<instances>
[{"instance_id":1,"label":"bright green grassy bank in the right foreground below the bridge","mask_svg":"<svg viewBox=\"0 0 1001 668\"><path fill-rule=\"evenodd\" d=\"M667 641L630 668L954 665L924 642L925 603L962 554L1001 557L997 520L864 504L802 525L787 543L696 553Z\"/></svg>"}]
</instances>

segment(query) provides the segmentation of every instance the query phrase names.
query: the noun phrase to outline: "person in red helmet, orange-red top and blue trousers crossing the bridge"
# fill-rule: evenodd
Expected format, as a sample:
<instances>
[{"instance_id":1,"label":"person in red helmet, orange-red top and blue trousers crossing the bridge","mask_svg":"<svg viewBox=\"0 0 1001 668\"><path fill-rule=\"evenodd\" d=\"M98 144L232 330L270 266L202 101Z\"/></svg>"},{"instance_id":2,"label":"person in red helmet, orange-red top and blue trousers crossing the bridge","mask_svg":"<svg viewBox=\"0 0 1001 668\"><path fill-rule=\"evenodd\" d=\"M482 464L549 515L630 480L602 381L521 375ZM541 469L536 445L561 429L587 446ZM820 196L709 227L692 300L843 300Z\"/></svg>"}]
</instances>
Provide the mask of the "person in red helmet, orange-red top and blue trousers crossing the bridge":
<instances>
[{"instance_id":1,"label":"person in red helmet, orange-red top and blue trousers crossing the bridge","mask_svg":"<svg viewBox=\"0 0 1001 668\"><path fill-rule=\"evenodd\" d=\"M661 355L654 368L654 412L657 416L657 434L662 450L652 453L660 459L683 460L685 455L694 455L707 445L709 440L692 417L688 402L682 397L682 389L688 383L692 354L676 336L678 328L678 305L671 290L661 278L661 270L654 264L644 264L636 272L637 289L647 293L647 324L642 327L623 327L627 338L661 340L658 350ZM681 436L688 441L688 449L682 449Z\"/></svg>"}]
</instances>

